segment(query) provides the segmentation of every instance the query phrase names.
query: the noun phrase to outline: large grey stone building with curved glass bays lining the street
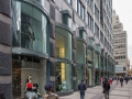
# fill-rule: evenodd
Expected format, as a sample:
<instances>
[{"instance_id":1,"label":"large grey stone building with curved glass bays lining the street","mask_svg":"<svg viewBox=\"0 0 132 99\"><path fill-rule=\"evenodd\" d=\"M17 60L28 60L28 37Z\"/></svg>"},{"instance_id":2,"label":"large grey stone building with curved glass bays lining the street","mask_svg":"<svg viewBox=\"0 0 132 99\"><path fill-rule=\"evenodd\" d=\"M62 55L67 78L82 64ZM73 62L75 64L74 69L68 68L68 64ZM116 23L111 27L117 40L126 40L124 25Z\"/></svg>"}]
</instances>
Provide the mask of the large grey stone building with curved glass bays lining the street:
<instances>
[{"instance_id":1,"label":"large grey stone building with curved glass bays lining the street","mask_svg":"<svg viewBox=\"0 0 132 99\"><path fill-rule=\"evenodd\" d=\"M113 77L112 0L0 0L0 91L25 97L26 82L58 95Z\"/></svg>"}]
</instances>

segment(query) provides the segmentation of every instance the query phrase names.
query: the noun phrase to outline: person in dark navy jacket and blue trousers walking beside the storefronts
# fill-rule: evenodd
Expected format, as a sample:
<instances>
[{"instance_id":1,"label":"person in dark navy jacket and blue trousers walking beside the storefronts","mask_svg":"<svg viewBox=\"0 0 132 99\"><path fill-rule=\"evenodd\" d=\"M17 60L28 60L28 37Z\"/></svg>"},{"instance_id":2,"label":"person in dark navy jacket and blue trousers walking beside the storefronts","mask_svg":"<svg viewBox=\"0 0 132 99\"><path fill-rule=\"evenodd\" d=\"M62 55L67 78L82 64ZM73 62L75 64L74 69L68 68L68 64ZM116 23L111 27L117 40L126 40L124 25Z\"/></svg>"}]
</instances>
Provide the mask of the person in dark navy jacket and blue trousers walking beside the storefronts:
<instances>
[{"instance_id":1,"label":"person in dark navy jacket and blue trousers walking beside the storefronts","mask_svg":"<svg viewBox=\"0 0 132 99\"><path fill-rule=\"evenodd\" d=\"M78 89L80 91L80 99L85 99L85 91L87 89L84 80L81 80L81 82L78 85Z\"/></svg>"}]
</instances>

